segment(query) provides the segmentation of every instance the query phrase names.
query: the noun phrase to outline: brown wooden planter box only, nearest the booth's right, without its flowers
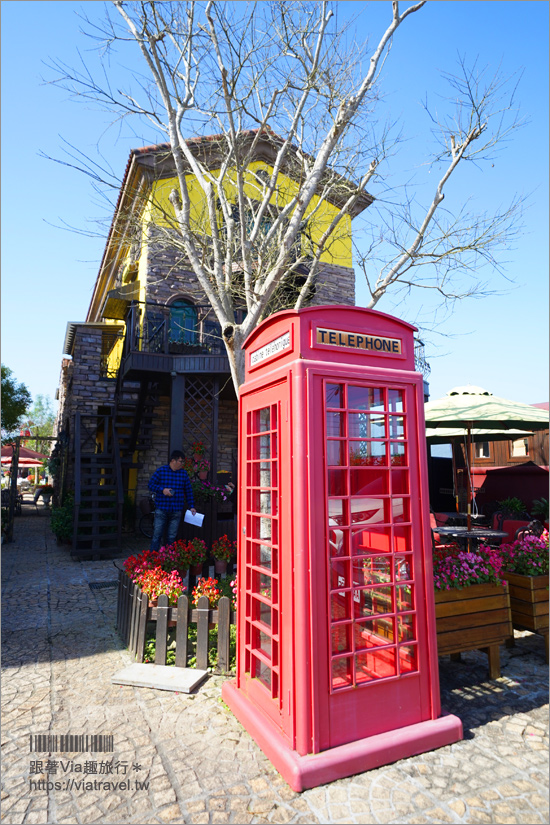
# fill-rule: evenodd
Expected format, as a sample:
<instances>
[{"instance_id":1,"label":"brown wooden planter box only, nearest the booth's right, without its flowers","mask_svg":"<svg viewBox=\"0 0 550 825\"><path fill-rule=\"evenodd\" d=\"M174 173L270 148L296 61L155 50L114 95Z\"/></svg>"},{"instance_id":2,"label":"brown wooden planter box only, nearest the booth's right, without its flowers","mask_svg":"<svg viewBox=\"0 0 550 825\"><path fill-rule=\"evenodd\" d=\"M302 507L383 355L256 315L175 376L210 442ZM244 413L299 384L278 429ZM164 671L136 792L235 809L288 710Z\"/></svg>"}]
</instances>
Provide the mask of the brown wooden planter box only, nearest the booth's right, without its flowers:
<instances>
[{"instance_id":1,"label":"brown wooden planter box only, nearest the booth's right, without its flowers","mask_svg":"<svg viewBox=\"0 0 550 825\"><path fill-rule=\"evenodd\" d=\"M435 617L440 656L479 648L489 657L489 677L498 679L499 645L513 636L508 585L436 590Z\"/></svg>"}]
</instances>

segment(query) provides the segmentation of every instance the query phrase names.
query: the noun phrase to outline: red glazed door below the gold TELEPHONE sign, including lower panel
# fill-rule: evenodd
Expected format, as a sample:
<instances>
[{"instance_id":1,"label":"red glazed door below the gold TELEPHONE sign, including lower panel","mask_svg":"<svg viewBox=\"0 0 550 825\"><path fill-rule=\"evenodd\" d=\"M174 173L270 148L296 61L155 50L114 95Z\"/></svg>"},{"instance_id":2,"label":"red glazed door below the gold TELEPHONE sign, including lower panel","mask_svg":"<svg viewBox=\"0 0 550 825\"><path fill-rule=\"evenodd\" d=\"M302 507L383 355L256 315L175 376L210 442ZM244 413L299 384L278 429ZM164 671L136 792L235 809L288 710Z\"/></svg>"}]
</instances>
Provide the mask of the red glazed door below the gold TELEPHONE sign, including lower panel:
<instances>
[{"instance_id":1,"label":"red glazed door below the gold TELEPHONE sign, including lower panel","mask_svg":"<svg viewBox=\"0 0 550 825\"><path fill-rule=\"evenodd\" d=\"M414 389L320 377L312 387L324 414L313 470L326 501L322 748L431 716Z\"/></svg>"}]
</instances>

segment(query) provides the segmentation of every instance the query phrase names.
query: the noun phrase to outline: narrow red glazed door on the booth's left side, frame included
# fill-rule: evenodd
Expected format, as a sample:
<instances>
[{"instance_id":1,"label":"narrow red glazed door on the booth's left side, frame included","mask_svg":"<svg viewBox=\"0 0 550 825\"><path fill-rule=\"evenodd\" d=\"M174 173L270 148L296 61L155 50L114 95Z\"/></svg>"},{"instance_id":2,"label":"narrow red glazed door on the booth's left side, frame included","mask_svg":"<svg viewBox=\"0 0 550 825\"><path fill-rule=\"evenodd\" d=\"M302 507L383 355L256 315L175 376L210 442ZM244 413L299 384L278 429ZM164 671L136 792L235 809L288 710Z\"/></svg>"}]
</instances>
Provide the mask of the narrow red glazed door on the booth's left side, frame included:
<instances>
[{"instance_id":1,"label":"narrow red glazed door on the booth's left side, frame included","mask_svg":"<svg viewBox=\"0 0 550 825\"><path fill-rule=\"evenodd\" d=\"M291 736L289 706L283 702L291 677L283 651L289 655L291 645L282 638L281 614L292 611L292 576L290 554L280 541L290 490L290 462L281 460L290 452L288 397L288 382L283 381L243 399L240 437L246 458L239 473L244 553L238 576L244 588L238 621L244 655L241 650L237 670L239 686Z\"/></svg>"}]
</instances>

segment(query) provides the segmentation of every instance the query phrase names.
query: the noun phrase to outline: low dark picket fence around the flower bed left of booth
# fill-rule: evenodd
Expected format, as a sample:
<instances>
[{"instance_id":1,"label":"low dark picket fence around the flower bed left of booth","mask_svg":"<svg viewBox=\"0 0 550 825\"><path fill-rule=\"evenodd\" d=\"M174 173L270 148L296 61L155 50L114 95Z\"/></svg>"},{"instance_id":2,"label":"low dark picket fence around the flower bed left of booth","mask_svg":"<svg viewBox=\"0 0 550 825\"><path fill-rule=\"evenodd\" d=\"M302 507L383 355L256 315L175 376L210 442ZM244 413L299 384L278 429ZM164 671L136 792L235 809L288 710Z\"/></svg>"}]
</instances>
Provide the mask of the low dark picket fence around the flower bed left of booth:
<instances>
[{"instance_id":1,"label":"low dark picket fence around the flower bed left of booth","mask_svg":"<svg viewBox=\"0 0 550 825\"><path fill-rule=\"evenodd\" d=\"M231 611L231 602L223 596L217 610L212 610L207 596L201 596L197 607L189 606L187 596L180 596L177 607L170 607L168 596L159 596L158 604L152 606L137 584L134 584L122 570L118 579L117 630L124 643L135 656L136 662L143 662L147 643L147 624L155 622L155 664L165 665L168 651L169 626L176 628L176 667L187 667L189 661L189 625L197 625L196 667L208 669L209 626L218 628L218 662L216 670L228 673L230 670L230 625L236 624L236 613Z\"/></svg>"}]
</instances>

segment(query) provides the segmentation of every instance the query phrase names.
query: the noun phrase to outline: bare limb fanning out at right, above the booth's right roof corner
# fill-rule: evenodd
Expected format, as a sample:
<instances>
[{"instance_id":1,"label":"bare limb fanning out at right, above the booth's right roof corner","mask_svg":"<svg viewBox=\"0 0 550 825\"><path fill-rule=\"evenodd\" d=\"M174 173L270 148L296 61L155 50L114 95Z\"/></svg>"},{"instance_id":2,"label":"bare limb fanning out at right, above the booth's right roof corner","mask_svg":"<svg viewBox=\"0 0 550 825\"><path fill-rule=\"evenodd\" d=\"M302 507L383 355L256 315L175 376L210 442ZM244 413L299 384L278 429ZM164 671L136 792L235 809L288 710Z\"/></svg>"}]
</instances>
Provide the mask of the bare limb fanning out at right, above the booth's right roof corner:
<instances>
[{"instance_id":1,"label":"bare limb fanning out at right, above the booth's right roof corner","mask_svg":"<svg viewBox=\"0 0 550 825\"><path fill-rule=\"evenodd\" d=\"M515 110L517 83L498 72L468 67L459 60L459 73L446 75L453 90L453 112L439 116L425 109L433 123L438 145L427 161L440 178L432 200L425 206L408 196L386 203L368 250L356 248L374 307L388 289L404 297L413 289L437 292L445 304L468 297L493 294L480 280L488 264L501 270L499 253L509 250L522 230L524 199L492 214L469 209L468 202L451 212L442 207L451 176L466 163L492 162L512 132L522 125ZM378 254L380 253L380 254Z\"/></svg>"}]
</instances>

